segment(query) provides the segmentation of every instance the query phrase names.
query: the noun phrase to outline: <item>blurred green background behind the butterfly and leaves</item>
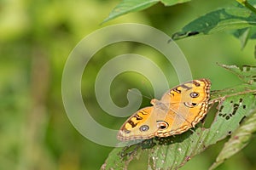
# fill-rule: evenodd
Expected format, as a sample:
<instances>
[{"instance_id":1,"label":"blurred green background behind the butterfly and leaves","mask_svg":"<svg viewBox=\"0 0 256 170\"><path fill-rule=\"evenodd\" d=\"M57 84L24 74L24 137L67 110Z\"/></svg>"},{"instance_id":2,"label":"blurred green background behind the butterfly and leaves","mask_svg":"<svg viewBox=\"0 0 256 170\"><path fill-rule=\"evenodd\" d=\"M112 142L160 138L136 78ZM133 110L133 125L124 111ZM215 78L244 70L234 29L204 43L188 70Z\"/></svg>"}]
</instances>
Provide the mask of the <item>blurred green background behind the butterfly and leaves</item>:
<instances>
[{"instance_id":1,"label":"blurred green background behind the butterfly and leaves","mask_svg":"<svg viewBox=\"0 0 256 170\"><path fill-rule=\"evenodd\" d=\"M112 148L95 144L79 134L69 122L61 99L61 74L68 55L86 35L104 26L133 22L154 26L172 35L190 20L230 1L192 1L174 7L157 4L143 12L126 14L100 25L119 1L0 1L0 169L99 169ZM177 41L187 57L194 78L206 77L212 89L234 86L239 79L220 68L226 65L255 65L254 42L241 50L240 42L228 33L190 37ZM108 116L96 103L94 82L101 66L117 54L143 54L161 62L160 54L148 47L121 43L102 49L86 68L84 103L97 122L118 129L125 118ZM168 66L166 67L168 71ZM170 84L177 85L170 68ZM125 73L113 82L111 94L117 105L126 105L127 89L138 88L152 97L143 76ZM148 89L149 90L148 90ZM143 106L149 105L143 99ZM92 127L93 128L93 127ZM218 169L255 169L256 139ZM224 141L182 169L207 169ZM131 169L147 167L147 161L132 161Z\"/></svg>"}]
</instances>

